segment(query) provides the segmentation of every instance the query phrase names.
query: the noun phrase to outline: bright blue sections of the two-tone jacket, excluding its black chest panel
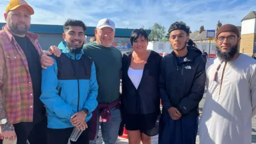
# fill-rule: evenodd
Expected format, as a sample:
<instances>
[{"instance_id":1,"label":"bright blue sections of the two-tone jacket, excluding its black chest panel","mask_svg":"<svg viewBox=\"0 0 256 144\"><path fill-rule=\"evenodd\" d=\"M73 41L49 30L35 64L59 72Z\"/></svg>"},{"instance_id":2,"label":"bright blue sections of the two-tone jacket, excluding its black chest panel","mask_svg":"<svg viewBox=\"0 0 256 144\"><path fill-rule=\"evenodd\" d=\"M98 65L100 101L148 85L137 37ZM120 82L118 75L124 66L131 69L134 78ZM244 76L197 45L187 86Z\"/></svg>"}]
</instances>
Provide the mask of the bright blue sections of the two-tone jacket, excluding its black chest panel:
<instances>
[{"instance_id":1,"label":"bright blue sections of the two-tone jacket, excluding its black chest panel","mask_svg":"<svg viewBox=\"0 0 256 144\"><path fill-rule=\"evenodd\" d=\"M62 55L65 54L68 58L73 60L81 59L84 54L83 51L76 55L70 53L66 48L65 42L61 42L58 47ZM65 65L64 68L65 67L67 66ZM65 71L63 71L63 73L65 73ZM92 117L92 111L98 106L98 83L94 63L92 62L91 77L88 79L61 80L58 79L57 75L58 66L57 61L54 59L52 66L42 70L42 94L40 99L46 106L48 127L51 129L74 127L70 123L70 117L77 112L77 109L80 111L83 108L90 111L85 119L85 121L88 122ZM59 91L61 91L61 93ZM78 95L79 108L77 108Z\"/></svg>"}]
</instances>

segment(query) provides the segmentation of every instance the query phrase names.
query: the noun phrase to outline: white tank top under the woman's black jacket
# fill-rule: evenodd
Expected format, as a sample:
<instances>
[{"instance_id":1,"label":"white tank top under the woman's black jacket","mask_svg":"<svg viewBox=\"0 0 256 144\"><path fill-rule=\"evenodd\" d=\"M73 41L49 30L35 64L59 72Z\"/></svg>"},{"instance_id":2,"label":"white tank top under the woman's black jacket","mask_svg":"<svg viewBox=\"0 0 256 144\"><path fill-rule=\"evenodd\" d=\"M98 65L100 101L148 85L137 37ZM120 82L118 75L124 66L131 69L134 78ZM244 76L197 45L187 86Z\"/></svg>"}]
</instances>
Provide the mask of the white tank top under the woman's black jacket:
<instances>
[{"instance_id":1,"label":"white tank top under the woman's black jacket","mask_svg":"<svg viewBox=\"0 0 256 144\"><path fill-rule=\"evenodd\" d=\"M129 67L128 69L128 76L130 77L136 89L138 89L142 74L143 74L143 69L132 69L131 67Z\"/></svg>"}]
</instances>

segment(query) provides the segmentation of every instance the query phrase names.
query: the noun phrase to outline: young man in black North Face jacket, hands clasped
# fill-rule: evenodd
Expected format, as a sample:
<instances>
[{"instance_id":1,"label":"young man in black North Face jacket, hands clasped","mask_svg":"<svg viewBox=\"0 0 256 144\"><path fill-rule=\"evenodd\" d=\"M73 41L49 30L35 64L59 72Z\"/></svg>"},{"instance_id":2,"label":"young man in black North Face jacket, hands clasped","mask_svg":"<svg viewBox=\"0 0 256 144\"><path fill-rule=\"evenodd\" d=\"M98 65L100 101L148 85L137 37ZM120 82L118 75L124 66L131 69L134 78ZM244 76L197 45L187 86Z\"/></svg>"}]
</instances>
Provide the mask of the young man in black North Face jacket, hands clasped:
<instances>
[{"instance_id":1,"label":"young man in black North Face jacket, hands clasped","mask_svg":"<svg viewBox=\"0 0 256 144\"><path fill-rule=\"evenodd\" d=\"M163 105L159 144L194 144L198 105L204 94L205 60L196 47L187 46L189 27L175 22L169 28L173 52L161 62L160 97Z\"/></svg>"}]
</instances>

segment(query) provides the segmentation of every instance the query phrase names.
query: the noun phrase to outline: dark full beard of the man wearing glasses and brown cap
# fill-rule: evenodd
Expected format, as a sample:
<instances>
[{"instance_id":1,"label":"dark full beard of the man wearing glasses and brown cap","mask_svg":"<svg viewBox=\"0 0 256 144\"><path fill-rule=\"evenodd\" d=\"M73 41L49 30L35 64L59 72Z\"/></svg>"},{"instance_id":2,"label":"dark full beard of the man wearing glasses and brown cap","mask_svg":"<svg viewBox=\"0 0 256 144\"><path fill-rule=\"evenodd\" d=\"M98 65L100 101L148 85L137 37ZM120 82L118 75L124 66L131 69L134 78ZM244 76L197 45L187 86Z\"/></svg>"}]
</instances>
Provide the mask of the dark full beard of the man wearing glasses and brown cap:
<instances>
[{"instance_id":1,"label":"dark full beard of the man wearing glasses and brown cap","mask_svg":"<svg viewBox=\"0 0 256 144\"><path fill-rule=\"evenodd\" d=\"M235 54L238 52L238 44L232 46L229 52L221 52L218 47L216 47L216 50L218 58L225 62L228 62L231 61L235 57Z\"/></svg>"}]
</instances>

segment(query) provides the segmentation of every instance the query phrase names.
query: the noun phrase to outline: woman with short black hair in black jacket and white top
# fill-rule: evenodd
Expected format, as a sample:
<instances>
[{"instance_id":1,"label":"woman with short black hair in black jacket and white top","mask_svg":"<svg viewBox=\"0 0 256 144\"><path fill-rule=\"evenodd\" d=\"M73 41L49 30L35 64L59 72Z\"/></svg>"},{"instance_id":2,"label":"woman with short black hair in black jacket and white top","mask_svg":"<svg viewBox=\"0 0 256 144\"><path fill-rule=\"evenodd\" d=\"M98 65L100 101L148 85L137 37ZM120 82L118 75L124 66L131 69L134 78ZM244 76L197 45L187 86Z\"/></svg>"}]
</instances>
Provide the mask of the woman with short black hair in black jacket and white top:
<instances>
[{"instance_id":1,"label":"woman with short black hair in black jacket and white top","mask_svg":"<svg viewBox=\"0 0 256 144\"><path fill-rule=\"evenodd\" d=\"M161 56L147 50L148 35L143 29L131 34L133 51L123 55L122 117L129 143L151 143L158 134L160 98L158 89Z\"/></svg>"}]
</instances>

